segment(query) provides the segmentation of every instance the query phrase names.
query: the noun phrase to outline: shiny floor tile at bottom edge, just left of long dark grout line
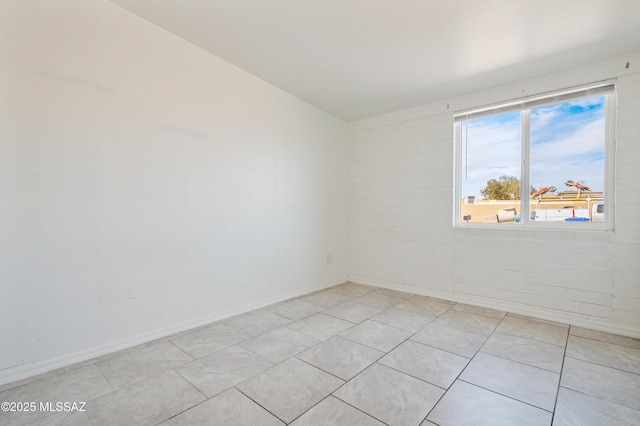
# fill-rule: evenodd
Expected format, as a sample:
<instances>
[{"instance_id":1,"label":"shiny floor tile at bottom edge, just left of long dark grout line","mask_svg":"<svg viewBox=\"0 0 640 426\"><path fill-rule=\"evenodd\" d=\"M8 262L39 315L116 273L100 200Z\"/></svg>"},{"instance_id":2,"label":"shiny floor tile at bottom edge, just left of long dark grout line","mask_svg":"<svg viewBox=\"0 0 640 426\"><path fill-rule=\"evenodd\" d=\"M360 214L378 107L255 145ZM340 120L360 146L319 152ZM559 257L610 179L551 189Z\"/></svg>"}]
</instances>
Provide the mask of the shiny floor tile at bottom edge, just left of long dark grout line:
<instances>
[{"instance_id":1,"label":"shiny floor tile at bottom edge, just left of long dark grout line","mask_svg":"<svg viewBox=\"0 0 640 426\"><path fill-rule=\"evenodd\" d=\"M458 380L427 420L441 426L549 426L551 413Z\"/></svg>"}]
</instances>

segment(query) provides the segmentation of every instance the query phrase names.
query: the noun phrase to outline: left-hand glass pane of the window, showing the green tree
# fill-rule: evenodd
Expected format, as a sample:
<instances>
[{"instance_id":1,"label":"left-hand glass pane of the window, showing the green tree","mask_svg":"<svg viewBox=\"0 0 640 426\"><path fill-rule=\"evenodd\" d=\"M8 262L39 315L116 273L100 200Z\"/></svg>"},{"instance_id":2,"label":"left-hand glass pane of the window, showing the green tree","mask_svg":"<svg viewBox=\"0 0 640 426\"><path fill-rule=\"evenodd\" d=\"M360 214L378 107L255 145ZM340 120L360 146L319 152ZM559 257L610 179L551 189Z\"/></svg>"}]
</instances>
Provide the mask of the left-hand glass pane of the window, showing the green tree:
<instances>
[{"instance_id":1,"label":"left-hand glass pane of the window, showing the green tree","mask_svg":"<svg viewBox=\"0 0 640 426\"><path fill-rule=\"evenodd\" d=\"M460 220L519 220L521 126L520 112L460 123Z\"/></svg>"}]
</instances>

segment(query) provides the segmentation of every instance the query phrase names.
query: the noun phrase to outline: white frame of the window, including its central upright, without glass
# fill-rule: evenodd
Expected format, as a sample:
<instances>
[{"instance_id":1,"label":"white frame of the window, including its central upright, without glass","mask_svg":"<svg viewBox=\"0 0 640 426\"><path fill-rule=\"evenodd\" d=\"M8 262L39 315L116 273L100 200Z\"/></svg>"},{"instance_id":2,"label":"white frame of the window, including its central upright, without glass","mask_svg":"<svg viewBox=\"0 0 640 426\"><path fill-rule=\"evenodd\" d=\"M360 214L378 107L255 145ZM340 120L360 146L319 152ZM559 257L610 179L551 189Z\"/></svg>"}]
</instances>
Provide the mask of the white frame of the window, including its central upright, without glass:
<instances>
[{"instance_id":1,"label":"white frame of the window, including its central upright, without glass","mask_svg":"<svg viewBox=\"0 0 640 426\"><path fill-rule=\"evenodd\" d=\"M566 102L591 96L605 96L605 159L604 159L604 194L605 194L605 220L604 222L546 222L530 220L530 113L532 108ZM461 123L469 118L500 115L520 111L522 113L522 138L521 138L521 169L520 169L520 223L480 223L465 222L461 217L462 199L462 127ZM615 80L608 80L591 85L579 86L565 90L559 90L530 96L513 101L492 104L489 106L462 110L454 113L454 217L455 227L482 227L482 228L506 228L506 229L558 229L558 230L614 230L615 218L615 127L616 127L616 90Z\"/></svg>"}]
</instances>

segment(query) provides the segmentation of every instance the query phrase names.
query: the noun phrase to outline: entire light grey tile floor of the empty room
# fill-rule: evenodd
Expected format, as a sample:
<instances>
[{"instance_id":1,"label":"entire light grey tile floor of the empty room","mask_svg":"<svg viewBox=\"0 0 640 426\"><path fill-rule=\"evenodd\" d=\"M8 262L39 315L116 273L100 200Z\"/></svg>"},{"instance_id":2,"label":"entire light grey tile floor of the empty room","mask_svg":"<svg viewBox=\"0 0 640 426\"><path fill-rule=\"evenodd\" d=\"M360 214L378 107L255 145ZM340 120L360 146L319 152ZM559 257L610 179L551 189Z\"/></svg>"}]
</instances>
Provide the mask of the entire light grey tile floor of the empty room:
<instances>
[{"instance_id":1,"label":"entire light grey tile floor of the empty room","mask_svg":"<svg viewBox=\"0 0 640 426\"><path fill-rule=\"evenodd\" d=\"M639 425L640 340L347 283L0 386L3 401L37 409L0 425Z\"/></svg>"}]
</instances>

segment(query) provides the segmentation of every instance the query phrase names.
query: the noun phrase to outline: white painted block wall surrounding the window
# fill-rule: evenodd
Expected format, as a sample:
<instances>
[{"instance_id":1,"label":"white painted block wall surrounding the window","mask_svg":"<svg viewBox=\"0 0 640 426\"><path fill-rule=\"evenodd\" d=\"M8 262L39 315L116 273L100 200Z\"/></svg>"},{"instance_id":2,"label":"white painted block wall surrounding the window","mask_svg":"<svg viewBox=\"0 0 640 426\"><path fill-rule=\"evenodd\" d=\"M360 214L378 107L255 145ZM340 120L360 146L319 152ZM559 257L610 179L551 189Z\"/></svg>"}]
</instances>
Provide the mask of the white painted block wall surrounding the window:
<instances>
[{"instance_id":1,"label":"white painted block wall surrounding the window","mask_svg":"<svg viewBox=\"0 0 640 426\"><path fill-rule=\"evenodd\" d=\"M351 123L350 280L640 337L639 70L635 52ZM452 226L453 111L615 77L615 232Z\"/></svg>"}]
</instances>

